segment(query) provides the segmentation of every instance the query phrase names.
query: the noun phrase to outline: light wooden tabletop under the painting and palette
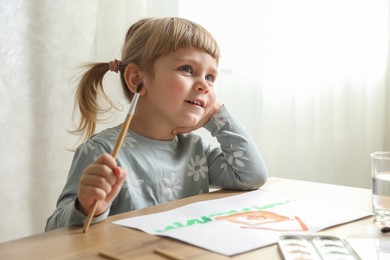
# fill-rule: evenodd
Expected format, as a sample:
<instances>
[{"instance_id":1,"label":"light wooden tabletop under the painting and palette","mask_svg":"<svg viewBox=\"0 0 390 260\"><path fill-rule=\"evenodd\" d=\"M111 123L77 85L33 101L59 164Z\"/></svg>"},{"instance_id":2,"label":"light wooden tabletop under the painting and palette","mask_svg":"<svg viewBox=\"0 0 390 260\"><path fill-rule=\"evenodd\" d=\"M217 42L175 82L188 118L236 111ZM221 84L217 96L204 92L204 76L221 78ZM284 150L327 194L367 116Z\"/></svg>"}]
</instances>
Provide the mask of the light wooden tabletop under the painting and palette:
<instances>
[{"instance_id":1,"label":"light wooden tabletop under the painting and palette","mask_svg":"<svg viewBox=\"0 0 390 260\"><path fill-rule=\"evenodd\" d=\"M371 211L369 189L330 185L271 177L261 190L286 195L291 198L312 197L337 203L355 209ZM106 221L92 225L87 233L81 227L62 228L0 244L0 259L105 259L99 255L107 251L122 259L167 259L154 253L161 248L174 253L180 259L226 259L202 248L166 238L146 234L142 231L114 225L113 220L140 216L174 209L189 203L241 194L237 191L220 190L201 194L163 205L149 207L109 217ZM348 224L321 231L322 234L338 237L378 237L379 227L373 218L367 217ZM236 255L234 259L282 259L277 245L263 247L248 253Z\"/></svg>"}]
</instances>

